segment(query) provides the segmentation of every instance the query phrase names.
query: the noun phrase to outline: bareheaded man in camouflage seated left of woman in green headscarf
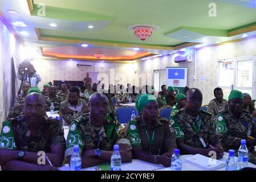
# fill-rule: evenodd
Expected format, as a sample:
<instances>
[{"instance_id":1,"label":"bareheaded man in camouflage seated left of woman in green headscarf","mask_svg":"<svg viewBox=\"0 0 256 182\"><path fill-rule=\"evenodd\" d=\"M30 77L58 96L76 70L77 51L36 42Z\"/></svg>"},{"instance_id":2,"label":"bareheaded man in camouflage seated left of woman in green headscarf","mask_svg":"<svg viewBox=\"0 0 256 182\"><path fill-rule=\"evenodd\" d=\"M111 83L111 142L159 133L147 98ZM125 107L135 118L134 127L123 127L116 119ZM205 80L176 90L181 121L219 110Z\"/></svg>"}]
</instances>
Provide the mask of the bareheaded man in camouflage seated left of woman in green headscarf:
<instances>
[{"instance_id":1,"label":"bareheaded man in camouflage seated left of woman in green headscarf","mask_svg":"<svg viewBox=\"0 0 256 182\"><path fill-rule=\"evenodd\" d=\"M122 162L132 161L131 144L113 114L108 114L108 98L94 93L90 97L90 114L71 123L65 157L70 160L73 146L79 145L82 168L110 162L113 145L119 144Z\"/></svg>"}]
</instances>

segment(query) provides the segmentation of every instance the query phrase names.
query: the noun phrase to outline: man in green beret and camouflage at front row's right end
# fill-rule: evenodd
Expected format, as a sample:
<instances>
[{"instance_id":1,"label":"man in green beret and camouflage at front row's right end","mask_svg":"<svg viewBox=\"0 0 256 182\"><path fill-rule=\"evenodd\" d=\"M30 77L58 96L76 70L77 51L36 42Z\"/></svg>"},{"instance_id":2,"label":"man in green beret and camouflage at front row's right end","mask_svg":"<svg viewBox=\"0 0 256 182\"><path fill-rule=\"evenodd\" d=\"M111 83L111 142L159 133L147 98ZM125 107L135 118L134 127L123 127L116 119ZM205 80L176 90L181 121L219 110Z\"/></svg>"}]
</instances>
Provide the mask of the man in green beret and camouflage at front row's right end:
<instances>
[{"instance_id":1,"label":"man in green beret and camouflage at front row's right end","mask_svg":"<svg viewBox=\"0 0 256 182\"><path fill-rule=\"evenodd\" d=\"M256 124L249 111L243 109L242 92L230 92L229 108L217 115L216 122L216 131L220 135L224 150L233 149L237 155L241 139L245 139L249 150L249 162L256 164Z\"/></svg>"}]
</instances>

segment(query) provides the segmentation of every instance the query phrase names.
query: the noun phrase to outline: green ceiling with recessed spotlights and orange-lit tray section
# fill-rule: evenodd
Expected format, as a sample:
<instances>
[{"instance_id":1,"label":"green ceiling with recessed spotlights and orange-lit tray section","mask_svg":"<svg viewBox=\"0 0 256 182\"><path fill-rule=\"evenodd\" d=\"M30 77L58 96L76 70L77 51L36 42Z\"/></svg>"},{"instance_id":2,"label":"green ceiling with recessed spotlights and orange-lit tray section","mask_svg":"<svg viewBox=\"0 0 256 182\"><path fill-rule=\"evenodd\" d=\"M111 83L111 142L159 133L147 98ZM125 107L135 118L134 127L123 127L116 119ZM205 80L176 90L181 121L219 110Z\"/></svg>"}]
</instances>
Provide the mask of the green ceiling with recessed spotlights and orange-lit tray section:
<instances>
[{"instance_id":1,"label":"green ceiling with recessed spotlights and orange-lit tray section","mask_svg":"<svg viewBox=\"0 0 256 182\"><path fill-rule=\"evenodd\" d=\"M213 2L216 17L208 15ZM249 0L2 0L0 19L44 56L131 61L252 38L256 36L254 4ZM88 45L83 47L86 53L81 53L82 44ZM105 55L96 58L91 52Z\"/></svg>"}]
</instances>

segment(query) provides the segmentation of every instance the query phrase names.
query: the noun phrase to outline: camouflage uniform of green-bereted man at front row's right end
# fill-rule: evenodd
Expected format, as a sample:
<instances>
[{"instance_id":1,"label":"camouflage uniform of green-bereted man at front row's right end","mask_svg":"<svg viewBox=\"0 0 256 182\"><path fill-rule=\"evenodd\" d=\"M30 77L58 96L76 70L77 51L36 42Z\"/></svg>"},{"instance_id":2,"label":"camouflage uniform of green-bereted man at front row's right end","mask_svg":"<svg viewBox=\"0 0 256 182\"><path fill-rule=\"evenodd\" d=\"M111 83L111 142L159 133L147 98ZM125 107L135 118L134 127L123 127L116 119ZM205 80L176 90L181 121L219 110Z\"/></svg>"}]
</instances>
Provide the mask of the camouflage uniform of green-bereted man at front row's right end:
<instances>
[{"instance_id":1,"label":"camouflage uniform of green-bereted man at front row's right end","mask_svg":"<svg viewBox=\"0 0 256 182\"><path fill-rule=\"evenodd\" d=\"M241 139L256 138L256 123L253 122L248 111L242 110L239 118L235 117L229 109L221 111L216 117L216 131L224 150L234 149L236 154L241 145ZM249 162L256 164L254 147L249 147Z\"/></svg>"}]
</instances>

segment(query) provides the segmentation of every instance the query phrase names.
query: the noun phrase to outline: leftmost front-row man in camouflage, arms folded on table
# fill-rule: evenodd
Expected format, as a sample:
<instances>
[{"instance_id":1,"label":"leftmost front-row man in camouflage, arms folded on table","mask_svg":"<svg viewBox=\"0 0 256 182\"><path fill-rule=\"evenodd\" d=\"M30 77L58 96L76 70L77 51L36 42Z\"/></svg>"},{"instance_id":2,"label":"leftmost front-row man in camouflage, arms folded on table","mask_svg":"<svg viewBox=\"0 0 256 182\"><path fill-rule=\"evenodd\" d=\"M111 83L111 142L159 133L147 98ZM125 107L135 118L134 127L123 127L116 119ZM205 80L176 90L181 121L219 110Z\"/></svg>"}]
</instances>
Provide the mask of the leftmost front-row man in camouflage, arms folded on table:
<instances>
[{"instance_id":1,"label":"leftmost front-row man in camouflage, arms folded on table","mask_svg":"<svg viewBox=\"0 0 256 182\"><path fill-rule=\"evenodd\" d=\"M45 105L42 94L31 93L25 98L25 115L3 122L0 135L2 170L56 170L48 162L38 163L39 151L47 153L53 166L62 166L66 148L63 127L59 121L44 117ZM7 141L6 146L2 146L3 141Z\"/></svg>"}]
</instances>

